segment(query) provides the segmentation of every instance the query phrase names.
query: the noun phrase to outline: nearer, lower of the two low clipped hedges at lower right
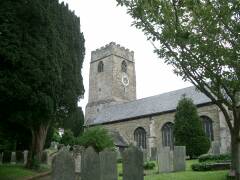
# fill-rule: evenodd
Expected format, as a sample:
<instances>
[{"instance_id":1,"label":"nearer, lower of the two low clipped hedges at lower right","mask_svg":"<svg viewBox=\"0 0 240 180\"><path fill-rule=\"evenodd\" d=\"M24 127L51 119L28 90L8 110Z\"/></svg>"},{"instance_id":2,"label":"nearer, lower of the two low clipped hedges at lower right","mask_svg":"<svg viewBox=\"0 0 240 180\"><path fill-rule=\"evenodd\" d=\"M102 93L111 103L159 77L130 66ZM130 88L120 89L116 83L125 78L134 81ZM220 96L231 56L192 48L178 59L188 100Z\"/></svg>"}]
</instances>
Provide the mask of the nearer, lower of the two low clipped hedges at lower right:
<instances>
[{"instance_id":1,"label":"nearer, lower of the two low clipped hedges at lower right","mask_svg":"<svg viewBox=\"0 0 240 180\"><path fill-rule=\"evenodd\" d=\"M215 170L226 170L230 169L230 163L213 163L213 162L206 162L206 163L197 163L192 164L193 171L215 171Z\"/></svg>"}]
</instances>

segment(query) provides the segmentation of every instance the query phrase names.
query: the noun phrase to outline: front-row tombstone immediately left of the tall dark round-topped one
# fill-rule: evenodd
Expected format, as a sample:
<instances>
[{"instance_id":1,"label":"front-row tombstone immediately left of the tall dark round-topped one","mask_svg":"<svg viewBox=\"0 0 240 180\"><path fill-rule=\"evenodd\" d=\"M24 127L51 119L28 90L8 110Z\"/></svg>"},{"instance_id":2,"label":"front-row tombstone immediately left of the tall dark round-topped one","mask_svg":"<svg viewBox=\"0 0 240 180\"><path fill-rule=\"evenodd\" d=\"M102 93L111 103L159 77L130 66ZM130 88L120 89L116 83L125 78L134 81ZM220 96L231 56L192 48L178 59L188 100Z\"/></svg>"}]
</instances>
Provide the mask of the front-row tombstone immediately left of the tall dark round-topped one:
<instances>
[{"instance_id":1,"label":"front-row tombstone immediately left of the tall dark round-topped one","mask_svg":"<svg viewBox=\"0 0 240 180\"><path fill-rule=\"evenodd\" d=\"M111 150L99 153L100 157L100 180L117 180L117 154Z\"/></svg>"}]
</instances>

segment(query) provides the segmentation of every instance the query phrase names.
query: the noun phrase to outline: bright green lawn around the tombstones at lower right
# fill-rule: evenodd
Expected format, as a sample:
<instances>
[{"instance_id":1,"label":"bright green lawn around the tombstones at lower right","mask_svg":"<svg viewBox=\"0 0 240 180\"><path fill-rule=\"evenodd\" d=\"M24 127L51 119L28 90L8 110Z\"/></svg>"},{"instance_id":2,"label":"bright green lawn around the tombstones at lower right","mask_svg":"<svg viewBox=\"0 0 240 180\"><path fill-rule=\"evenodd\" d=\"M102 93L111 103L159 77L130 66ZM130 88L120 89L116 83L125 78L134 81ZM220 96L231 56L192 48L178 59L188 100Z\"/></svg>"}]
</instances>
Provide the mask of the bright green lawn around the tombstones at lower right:
<instances>
[{"instance_id":1,"label":"bright green lawn around the tombstones at lower right","mask_svg":"<svg viewBox=\"0 0 240 180\"><path fill-rule=\"evenodd\" d=\"M192 171L191 165L197 163L197 160L189 160L186 164L186 171L157 174L157 168L145 171L144 180L226 180L228 171ZM122 165L118 164L118 172L122 172ZM119 177L118 180L122 180Z\"/></svg>"}]
</instances>

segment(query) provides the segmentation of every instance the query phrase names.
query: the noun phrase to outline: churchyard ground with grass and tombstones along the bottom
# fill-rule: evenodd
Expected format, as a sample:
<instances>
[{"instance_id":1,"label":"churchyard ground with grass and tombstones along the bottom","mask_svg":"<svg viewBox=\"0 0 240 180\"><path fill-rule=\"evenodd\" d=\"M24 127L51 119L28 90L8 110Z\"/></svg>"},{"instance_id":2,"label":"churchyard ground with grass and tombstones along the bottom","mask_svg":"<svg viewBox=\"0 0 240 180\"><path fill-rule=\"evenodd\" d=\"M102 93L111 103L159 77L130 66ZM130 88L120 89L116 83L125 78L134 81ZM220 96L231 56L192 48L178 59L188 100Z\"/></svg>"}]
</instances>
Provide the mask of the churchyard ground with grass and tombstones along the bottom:
<instances>
[{"instance_id":1,"label":"churchyard ground with grass and tombstones along the bottom","mask_svg":"<svg viewBox=\"0 0 240 180\"><path fill-rule=\"evenodd\" d=\"M143 153L136 147L130 147L122 154L119 161L117 153L104 150L100 153L89 147L84 149L75 146L73 151L69 147L62 147L57 153L45 151L43 162L45 168L41 171L30 171L23 164L15 164L14 158L10 163L0 165L1 179L28 179L27 177L39 176L38 180L225 180L227 170L197 172L191 169L191 165L198 160L185 161L185 147L175 147L171 151L166 148L158 153L158 160L151 161L155 164L152 169L145 169L143 164ZM50 153L51 152L51 153ZM51 161L51 155L54 160ZM50 159L49 159L50 158ZM163 162L163 163L161 163ZM47 165L48 164L48 165ZM50 167L52 164L51 173ZM44 166L43 166L44 167ZM44 175L45 174L45 175Z\"/></svg>"}]
</instances>

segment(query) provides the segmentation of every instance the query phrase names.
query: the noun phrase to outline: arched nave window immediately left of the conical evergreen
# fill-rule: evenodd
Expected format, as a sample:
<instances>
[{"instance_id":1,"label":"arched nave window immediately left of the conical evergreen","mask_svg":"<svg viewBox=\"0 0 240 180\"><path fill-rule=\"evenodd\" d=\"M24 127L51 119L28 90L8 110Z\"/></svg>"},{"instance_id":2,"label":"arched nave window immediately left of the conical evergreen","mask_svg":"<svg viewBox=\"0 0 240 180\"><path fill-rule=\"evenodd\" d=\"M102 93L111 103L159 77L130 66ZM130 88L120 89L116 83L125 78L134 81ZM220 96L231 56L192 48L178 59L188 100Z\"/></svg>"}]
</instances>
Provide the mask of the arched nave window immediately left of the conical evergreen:
<instances>
[{"instance_id":1,"label":"arched nave window immediately left of the conical evergreen","mask_svg":"<svg viewBox=\"0 0 240 180\"><path fill-rule=\"evenodd\" d=\"M173 123L168 122L162 127L162 143L163 147L170 146L173 148Z\"/></svg>"}]
</instances>

